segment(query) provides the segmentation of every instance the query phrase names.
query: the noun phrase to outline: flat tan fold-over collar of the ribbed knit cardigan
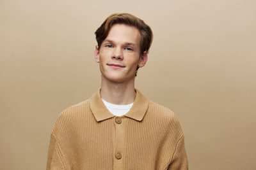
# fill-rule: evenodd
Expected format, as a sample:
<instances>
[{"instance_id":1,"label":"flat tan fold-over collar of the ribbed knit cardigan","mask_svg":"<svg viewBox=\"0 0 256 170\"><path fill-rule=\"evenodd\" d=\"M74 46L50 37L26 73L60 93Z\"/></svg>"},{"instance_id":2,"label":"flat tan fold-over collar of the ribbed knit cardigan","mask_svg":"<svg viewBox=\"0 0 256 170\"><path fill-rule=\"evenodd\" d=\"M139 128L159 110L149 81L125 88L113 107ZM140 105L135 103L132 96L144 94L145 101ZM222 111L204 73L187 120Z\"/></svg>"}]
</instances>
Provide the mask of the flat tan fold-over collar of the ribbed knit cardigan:
<instances>
[{"instance_id":1,"label":"flat tan fold-over collar of the ribbed knit cardigan","mask_svg":"<svg viewBox=\"0 0 256 170\"><path fill-rule=\"evenodd\" d=\"M132 108L124 116L141 121L148 108L148 99L143 96L143 94L141 94L139 90L135 89L135 91L136 97ZM115 117L115 115L110 113L108 108L106 108L106 106L102 102L102 99L100 97L100 89L97 90L97 92L95 92L95 94L93 94L93 96L89 99L89 103L93 116L95 117L97 122Z\"/></svg>"}]
</instances>

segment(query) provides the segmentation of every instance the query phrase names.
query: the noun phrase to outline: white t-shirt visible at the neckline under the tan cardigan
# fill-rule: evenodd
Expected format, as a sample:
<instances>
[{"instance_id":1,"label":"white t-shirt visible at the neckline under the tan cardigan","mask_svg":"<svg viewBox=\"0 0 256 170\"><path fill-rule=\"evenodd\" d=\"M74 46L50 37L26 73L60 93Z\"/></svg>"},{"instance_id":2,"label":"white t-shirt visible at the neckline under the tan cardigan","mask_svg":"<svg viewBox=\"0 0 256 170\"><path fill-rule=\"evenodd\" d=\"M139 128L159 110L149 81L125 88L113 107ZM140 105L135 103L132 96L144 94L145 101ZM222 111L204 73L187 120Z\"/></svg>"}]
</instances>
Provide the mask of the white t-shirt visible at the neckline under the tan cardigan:
<instances>
[{"instance_id":1,"label":"white t-shirt visible at the neckline under the tan cardigan","mask_svg":"<svg viewBox=\"0 0 256 170\"><path fill-rule=\"evenodd\" d=\"M132 108L132 104L133 104L131 103L131 104L125 104L125 105L118 105L118 104L108 103L107 101L104 101L104 99L102 99L102 101L105 104L105 106L108 108L110 113L112 113L116 117L121 117L122 115L125 115Z\"/></svg>"}]
</instances>

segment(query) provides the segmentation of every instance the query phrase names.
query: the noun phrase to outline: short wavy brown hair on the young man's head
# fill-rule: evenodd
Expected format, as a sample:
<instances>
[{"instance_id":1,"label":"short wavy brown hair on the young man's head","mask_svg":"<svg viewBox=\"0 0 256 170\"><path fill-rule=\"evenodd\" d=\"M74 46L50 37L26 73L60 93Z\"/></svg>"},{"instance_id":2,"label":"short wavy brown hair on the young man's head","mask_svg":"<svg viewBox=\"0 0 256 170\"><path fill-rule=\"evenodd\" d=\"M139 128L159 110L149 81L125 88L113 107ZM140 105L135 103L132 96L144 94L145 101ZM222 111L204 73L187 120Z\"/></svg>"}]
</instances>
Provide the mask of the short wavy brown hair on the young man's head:
<instances>
[{"instance_id":1,"label":"short wavy brown hair on the young man's head","mask_svg":"<svg viewBox=\"0 0 256 170\"><path fill-rule=\"evenodd\" d=\"M143 20L129 13L114 13L106 18L102 25L100 25L95 32L96 40L99 46L98 50L100 50L102 42L107 38L108 33L114 24L125 24L136 27L140 31L140 55L143 55L143 52L145 51L148 53L153 39L153 32L151 28L145 24L145 22L143 22ZM137 67L136 70L138 70L138 68L139 67Z\"/></svg>"}]
</instances>

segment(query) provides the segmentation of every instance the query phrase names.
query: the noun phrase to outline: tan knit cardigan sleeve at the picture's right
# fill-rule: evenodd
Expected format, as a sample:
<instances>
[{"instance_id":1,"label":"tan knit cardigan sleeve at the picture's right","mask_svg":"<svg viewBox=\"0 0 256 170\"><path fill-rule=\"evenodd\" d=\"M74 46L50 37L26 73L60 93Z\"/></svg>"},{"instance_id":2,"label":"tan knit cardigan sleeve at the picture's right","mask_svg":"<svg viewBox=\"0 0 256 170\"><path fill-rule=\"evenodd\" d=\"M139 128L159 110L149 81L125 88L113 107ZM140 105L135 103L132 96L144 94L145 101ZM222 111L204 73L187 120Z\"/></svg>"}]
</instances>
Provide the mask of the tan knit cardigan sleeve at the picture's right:
<instances>
[{"instance_id":1,"label":"tan knit cardigan sleeve at the picture's right","mask_svg":"<svg viewBox=\"0 0 256 170\"><path fill-rule=\"evenodd\" d=\"M168 170L188 170L188 157L185 150L184 136L179 139L175 158L169 164Z\"/></svg>"}]
</instances>

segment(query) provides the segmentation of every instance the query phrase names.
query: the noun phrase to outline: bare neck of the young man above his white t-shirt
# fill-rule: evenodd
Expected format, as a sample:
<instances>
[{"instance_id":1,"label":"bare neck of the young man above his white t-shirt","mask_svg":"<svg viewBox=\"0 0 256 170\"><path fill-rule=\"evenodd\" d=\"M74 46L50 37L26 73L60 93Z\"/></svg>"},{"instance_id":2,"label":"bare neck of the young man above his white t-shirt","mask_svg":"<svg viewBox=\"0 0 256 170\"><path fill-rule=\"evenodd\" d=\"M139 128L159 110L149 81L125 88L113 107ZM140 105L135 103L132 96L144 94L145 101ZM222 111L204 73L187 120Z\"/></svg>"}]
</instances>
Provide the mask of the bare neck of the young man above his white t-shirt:
<instances>
[{"instance_id":1,"label":"bare neck of the young man above his white t-shirt","mask_svg":"<svg viewBox=\"0 0 256 170\"><path fill-rule=\"evenodd\" d=\"M116 83L102 78L100 96L113 104L131 104L134 102L134 78L128 82Z\"/></svg>"}]
</instances>

